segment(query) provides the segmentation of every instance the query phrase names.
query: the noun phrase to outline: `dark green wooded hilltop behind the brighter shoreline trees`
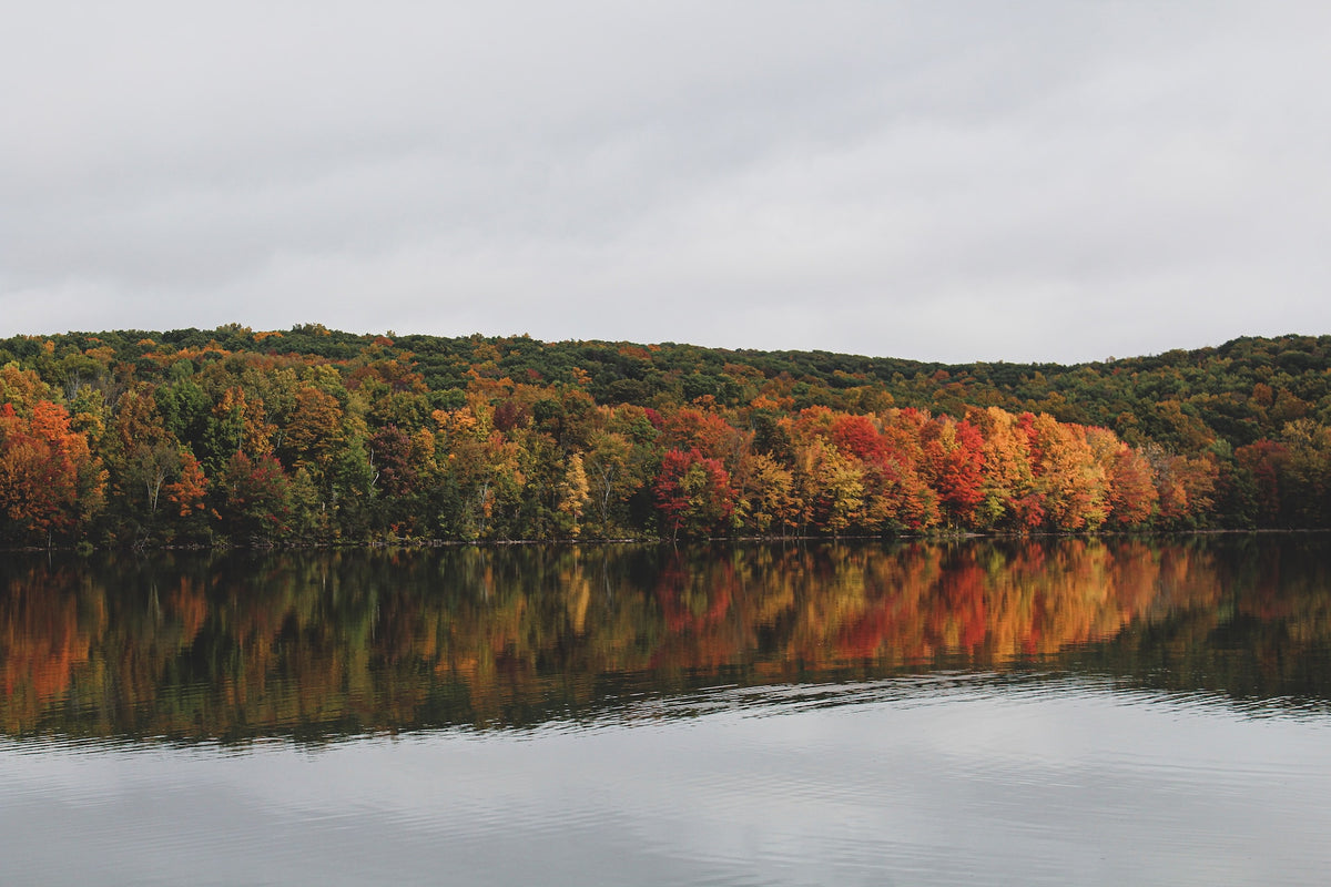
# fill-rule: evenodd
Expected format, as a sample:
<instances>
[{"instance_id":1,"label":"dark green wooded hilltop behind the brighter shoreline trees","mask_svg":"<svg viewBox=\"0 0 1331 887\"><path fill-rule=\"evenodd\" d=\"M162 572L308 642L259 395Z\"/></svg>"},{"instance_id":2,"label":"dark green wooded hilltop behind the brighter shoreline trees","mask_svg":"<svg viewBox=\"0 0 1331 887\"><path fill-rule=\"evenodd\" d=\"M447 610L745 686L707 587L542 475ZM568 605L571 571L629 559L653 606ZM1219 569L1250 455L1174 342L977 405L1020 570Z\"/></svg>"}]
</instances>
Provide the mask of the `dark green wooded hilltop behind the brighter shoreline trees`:
<instances>
[{"instance_id":1,"label":"dark green wooded hilltop behind the brighter shoreline trees","mask_svg":"<svg viewBox=\"0 0 1331 887\"><path fill-rule=\"evenodd\" d=\"M630 342L539 342L527 336L383 336L302 324L282 332L216 330L71 332L0 339L0 363L37 360L55 343L56 375L77 367L75 351L109 347L118 360L140 360L162 346L240 354L314 355L353 360L377 342L385 354L410 354L431 391L465 387L473 368L515 379L571 382L591 376L598 403L654 406L712 395L743 406L767 383L788 383L797 407L855 408L868 391L897 406L953 415L966 406L1049 412L1061 422L1113 428L1130 442L1178 447L1198 443L1198 423L1234 445L1279 434L1284 423L1331 422L1331 335L1244 336L1215 348L1063 366L1057 363L921 363L829 351L753 351ZM64 367L60 362L65 360ZM75 374L77 368L72 370ZM87 371L87 368L85 368ZM1258 386L1264 386L1259 388ZM1267 392L1270 388L1270 394ZM1268 402L1270 399L1270 402ZM1177 407L1175 407L1177 404Z\"/></svg>"}]
</instances>

